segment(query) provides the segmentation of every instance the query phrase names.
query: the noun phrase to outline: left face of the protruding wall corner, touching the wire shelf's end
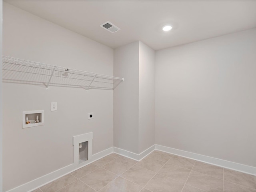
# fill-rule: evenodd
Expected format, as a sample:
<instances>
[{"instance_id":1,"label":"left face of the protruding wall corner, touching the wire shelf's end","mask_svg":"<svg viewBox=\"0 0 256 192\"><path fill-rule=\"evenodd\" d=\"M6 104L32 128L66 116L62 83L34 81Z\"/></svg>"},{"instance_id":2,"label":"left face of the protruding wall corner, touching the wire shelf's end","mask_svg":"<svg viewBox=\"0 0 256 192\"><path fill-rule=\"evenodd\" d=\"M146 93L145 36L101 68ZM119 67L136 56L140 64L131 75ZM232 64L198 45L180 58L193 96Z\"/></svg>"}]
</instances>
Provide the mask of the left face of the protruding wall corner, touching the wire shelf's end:
<instances>
[{"instance_id":1,"label":"left face of the protruding wall corner, touching the wire shelf's end","mask_svg":"<svg viewBox=\"0 0 256 192\"><path fill-rule=\"evenodd\" d=\"M124 78L114 89L114 146L138 153L139 42L114 50L114 76Z\"/></svg>"}]
</instances>

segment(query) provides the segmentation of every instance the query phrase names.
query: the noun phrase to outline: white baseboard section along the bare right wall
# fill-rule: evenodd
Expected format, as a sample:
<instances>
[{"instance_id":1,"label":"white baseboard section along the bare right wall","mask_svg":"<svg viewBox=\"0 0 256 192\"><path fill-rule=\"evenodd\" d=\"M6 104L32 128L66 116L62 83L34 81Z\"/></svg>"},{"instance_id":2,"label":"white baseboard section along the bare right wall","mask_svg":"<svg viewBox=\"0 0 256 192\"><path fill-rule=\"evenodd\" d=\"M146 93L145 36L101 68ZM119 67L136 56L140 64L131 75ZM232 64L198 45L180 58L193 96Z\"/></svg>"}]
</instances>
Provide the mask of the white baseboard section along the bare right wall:
<instances>
[{"instance_id":1,"label":"white baseboard section along the bare right wall","mask_svg":"<svg viewBox=\"0 0 256 192\"><path fill-rule=\"evenodd\" d=\"M161 146L161 145L157 145L157 144L155 146L156 146L156 150L160 150L163 152L175 154L178 156L183 156L186 158L194 159L197 161L205 162L208 164L212 164L212 165L216 165L216 166L220 166L220 167L224 167L224 168L228 168L228 169L232 169L235 171L239 171L239 172L243 172L243 173L247 173L247 174L256 176L256 167L243 165L243 164L239 164L239 163L235 163L235 162L231 162L231 161L227 161L227 160L222 160L222 159L218 159L218 158L214 158L214 157L209 157L209 156L205 156L205 155L200 155L200 154L183 151L183 150L179 150L179 149L174 149L174 148L170 148L170 147L166 147L166 146Z\"/></svg>"}]
</instances>

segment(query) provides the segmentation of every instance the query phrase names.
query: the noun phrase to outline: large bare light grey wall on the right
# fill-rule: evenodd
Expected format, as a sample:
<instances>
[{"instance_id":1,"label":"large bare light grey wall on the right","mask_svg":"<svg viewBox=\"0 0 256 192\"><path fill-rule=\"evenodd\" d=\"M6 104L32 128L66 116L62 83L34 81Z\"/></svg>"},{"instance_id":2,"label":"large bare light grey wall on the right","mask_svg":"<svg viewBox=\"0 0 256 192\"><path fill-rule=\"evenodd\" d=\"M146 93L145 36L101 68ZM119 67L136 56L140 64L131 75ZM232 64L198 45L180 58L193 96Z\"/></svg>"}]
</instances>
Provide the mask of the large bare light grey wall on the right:
<instances>
[{"instance_id":1,"label":"large bare light grey wall on the right","mask_svg":"<svg viewBox=\"0 0 256 192\"><path fill-rule=\"evenodd\" d=\"M156 52L156 144L256 166L256 29Z\"/></svg>"}]
</instances>

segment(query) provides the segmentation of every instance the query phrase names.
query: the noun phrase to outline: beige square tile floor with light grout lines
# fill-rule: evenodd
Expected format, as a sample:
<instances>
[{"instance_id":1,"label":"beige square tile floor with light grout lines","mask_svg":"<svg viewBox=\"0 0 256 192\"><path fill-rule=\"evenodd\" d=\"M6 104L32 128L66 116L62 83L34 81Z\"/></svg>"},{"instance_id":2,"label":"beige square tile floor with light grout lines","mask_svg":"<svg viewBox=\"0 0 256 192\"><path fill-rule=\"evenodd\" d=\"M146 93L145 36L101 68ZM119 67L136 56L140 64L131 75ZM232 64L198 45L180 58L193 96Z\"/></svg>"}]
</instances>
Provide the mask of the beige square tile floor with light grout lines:
<instances>
[{"instance_id":1,"label":"beige square tile floor with light grout lines","mask_svg":"<svg viewBox=\"0 0 256 192\"><path fill-rule=\"evenodd\" d=\"M256 192L256 176L153 151L110 154L34 192Z\"/></svg>"}]
</instances>

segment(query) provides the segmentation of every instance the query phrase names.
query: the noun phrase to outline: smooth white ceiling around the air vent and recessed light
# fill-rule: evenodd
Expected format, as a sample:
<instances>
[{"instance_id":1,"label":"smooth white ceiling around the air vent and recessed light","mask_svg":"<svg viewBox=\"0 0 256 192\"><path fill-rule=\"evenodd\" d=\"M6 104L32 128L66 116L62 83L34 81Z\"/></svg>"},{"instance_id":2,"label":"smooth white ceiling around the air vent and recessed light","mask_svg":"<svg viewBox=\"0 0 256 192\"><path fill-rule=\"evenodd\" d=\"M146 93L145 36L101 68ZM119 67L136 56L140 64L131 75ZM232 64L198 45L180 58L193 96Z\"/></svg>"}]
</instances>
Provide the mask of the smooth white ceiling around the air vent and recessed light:
<instances>
[{"instance_id":1,"label":"smooth white ceiling around the air vent and recessed light","mask_svg":"<svg viewBox=\"0 0 256 192\"><path fill-rule=\"evenodd\" d=\"M111 48L142 41L154 50L256 28L254 0L6 0ZM121 28L110 33L109 21ZM164 32L161 27L171 24Z\"/></svg>"}]
</instances>

